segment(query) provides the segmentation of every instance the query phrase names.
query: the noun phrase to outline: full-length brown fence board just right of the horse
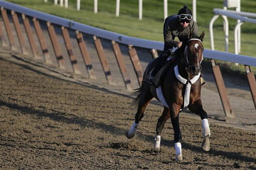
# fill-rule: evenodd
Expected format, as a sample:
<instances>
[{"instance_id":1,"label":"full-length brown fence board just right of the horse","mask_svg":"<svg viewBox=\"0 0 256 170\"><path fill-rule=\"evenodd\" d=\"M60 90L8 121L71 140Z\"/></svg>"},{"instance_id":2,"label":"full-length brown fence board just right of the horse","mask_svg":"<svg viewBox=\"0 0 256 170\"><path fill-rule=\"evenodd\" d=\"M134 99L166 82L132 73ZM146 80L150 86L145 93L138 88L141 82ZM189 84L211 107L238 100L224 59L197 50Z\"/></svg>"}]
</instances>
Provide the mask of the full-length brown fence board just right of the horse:
<instances>
[{"instance_id":1,"label":"full-length brown fence board just right of the horse","mask_svg":"<svg viewBox=\"0 0 256 170\"><path fill-rule=\"evenodd\" d=\"M229 99L228 99L228 95L227 95L227 90L219 69L219 66L213 66L212 67L213 70L213 74L214 74L214 78L215 78L215 82L219 91L219 96L222 102L222 106L225 112L226 117L234 117L233 113L232 113L232 109L231 106L229 104Z\"/></svg>"}]
</instances>

